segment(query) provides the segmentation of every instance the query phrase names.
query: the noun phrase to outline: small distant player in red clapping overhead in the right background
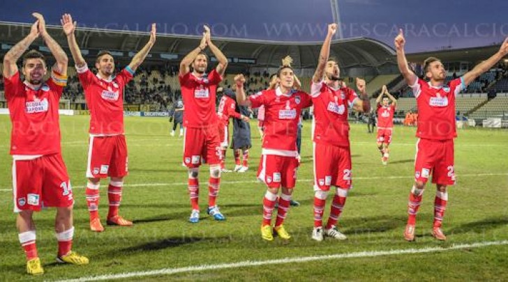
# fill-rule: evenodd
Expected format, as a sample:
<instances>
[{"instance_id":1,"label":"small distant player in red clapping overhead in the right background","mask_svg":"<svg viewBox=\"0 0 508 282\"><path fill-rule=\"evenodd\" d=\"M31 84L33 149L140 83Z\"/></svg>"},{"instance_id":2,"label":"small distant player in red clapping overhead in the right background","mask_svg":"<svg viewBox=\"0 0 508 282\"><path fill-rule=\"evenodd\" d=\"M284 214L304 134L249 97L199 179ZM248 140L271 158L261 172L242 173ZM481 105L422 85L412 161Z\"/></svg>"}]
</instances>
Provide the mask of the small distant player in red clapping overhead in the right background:
<instances>
[{"instance_id":1,"label":"small distant player in red clapping overhead in the right background","mask_svg":"<svg viewBox=\"0 0 508 282\"><path fill-rule=\"evenodd\" d=\"M383 95L388 97L383 97ZM394 113L397 100L388 92L387 86L383 85L375 103L378 104L378 149L381 152L381 162L386 165L388 164L390 152L388 146L391 143L391 134L394 130Z\"/></svg>"}]
</instances>

